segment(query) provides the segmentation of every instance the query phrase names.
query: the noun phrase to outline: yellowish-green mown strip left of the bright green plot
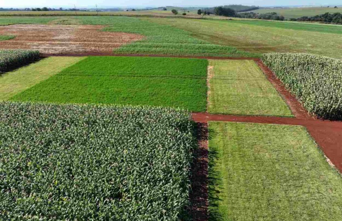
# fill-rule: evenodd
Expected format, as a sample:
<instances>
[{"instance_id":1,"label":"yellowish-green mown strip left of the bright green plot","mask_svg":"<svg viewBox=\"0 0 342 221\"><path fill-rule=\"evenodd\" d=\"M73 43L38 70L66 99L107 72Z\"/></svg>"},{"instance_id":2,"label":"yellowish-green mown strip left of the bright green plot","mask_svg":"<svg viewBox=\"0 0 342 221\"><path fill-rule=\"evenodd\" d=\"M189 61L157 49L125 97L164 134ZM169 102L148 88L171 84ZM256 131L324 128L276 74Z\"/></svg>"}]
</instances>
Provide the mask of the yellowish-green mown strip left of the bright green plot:
<instances>
[{"instance_id":1,"label":"yellowish-green mown strip left of the bright green plot","mask_svg":"<svg viewBox=\"0 0 342 221\"><path fill-rule=\"evenodd\" d=\"M0 75L0 100L7 100L84 57L48 57L39 62Z\"/></svg>"}]
</instances>

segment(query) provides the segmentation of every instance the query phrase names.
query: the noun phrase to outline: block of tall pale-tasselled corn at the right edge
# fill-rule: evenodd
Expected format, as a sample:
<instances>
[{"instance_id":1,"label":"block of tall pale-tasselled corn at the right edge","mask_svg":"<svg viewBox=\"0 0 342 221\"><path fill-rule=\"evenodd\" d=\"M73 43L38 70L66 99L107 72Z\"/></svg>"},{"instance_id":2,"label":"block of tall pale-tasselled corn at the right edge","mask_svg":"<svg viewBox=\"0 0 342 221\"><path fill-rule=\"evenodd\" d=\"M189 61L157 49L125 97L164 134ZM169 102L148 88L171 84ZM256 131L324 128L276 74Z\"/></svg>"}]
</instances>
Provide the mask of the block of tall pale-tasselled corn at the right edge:
<instances>
[{"instance_id":1,"label":"block of tall pale-tasselled corn at the right edge","mask_svg":"<svg viewBox=\"0 0 342 221\"><path fill-rule=\"evenodd\" d=\"M299 99L321 118L342 119L342 61L296 53L265 54L262 61Z\"/></svg>"}]
</instances>

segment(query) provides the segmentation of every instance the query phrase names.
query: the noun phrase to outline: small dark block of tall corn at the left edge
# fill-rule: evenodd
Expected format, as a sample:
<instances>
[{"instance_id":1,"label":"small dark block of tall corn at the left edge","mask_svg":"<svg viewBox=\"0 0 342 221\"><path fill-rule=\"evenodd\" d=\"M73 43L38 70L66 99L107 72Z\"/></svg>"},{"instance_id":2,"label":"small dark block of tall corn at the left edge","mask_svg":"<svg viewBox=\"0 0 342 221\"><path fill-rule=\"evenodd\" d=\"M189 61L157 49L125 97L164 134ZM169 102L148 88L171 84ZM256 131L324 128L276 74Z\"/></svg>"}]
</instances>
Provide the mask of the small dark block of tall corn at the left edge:
<instances>
[{"instance_id":1,"label":"small dark block of tall corn at the left edge","mask_svg":"<svg viewBox=\"0 0 342 221\"><path fill-rule=\"evenodd\" d=\"M40 57L39 51L0 50L0 73L29 64Z\"/></svg>"}]
</instances>

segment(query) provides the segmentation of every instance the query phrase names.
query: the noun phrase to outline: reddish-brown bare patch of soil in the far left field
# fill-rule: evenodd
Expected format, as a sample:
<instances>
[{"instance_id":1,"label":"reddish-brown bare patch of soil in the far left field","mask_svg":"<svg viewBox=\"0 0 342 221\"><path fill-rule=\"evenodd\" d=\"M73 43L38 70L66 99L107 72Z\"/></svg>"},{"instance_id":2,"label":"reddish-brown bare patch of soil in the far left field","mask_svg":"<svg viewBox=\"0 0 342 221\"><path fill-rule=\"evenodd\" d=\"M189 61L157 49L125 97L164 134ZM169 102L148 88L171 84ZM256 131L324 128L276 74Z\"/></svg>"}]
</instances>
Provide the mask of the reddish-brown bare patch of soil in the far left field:
<instances>
[{"instance_id":1,"label":"reddish-brown bare patch of soil in the far left field","mask_svg":"<svg viewBox=\"0 0 342 221\"><path fill-rule=\"evenodd\" d=\"M43 54L111 54L114 48L144 38L142 35L101 31L102 25L16 24L0 26L0 49L33 49Z\"/></svg>"}]
</instances>

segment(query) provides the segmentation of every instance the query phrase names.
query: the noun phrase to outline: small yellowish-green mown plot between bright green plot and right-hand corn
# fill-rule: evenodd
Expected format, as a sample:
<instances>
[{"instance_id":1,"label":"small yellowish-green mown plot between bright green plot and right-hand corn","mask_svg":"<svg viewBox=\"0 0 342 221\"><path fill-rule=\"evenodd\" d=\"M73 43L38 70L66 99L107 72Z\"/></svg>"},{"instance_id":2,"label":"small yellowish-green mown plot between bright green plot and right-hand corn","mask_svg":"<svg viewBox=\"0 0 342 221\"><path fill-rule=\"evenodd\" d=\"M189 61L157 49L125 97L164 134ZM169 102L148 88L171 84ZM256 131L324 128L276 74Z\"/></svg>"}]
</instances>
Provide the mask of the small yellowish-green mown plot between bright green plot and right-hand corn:
<instances>
[{"instance_id":1,"label":"small yellowish-green mown plot between bright green plot and right-hand corn","mask_svg":"<svg viewBox=\"0 0 342 221\"><path fill-rule=\"evenodd\" d=\"M293 116L252 60L211 60L208 112Z\"/></svg>"}]
</instances>

